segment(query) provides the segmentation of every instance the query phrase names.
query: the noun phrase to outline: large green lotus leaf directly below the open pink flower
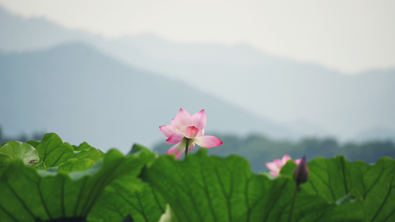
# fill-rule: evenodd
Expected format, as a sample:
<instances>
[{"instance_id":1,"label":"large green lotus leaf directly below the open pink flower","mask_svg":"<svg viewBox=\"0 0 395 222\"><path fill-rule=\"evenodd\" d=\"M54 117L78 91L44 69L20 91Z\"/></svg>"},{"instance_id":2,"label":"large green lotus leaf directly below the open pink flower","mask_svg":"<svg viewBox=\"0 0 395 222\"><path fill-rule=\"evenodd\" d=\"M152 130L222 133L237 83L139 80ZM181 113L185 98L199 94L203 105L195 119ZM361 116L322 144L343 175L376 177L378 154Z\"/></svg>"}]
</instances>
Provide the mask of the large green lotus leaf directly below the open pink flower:
<instances>
[{"instance_id":1,"label":"large green lotus leaf directly below the open pink flower","mask_svg":"<svg viewBox=\"0 0 395 222\"><path fill-rule=\"evenodd\" d=\"M290 177L270 179L252 173L237 155L207 156L207 150L183 161L160 156L141 177L169 203L179 221L365 221L362 199L328 202L302 189ZM291 203L295 192L295 207ZM291 213L292 212L292 213ZM350 214L353 212L353 214Z\"/></svg>"}]
</instances>

